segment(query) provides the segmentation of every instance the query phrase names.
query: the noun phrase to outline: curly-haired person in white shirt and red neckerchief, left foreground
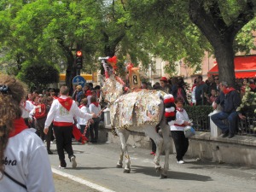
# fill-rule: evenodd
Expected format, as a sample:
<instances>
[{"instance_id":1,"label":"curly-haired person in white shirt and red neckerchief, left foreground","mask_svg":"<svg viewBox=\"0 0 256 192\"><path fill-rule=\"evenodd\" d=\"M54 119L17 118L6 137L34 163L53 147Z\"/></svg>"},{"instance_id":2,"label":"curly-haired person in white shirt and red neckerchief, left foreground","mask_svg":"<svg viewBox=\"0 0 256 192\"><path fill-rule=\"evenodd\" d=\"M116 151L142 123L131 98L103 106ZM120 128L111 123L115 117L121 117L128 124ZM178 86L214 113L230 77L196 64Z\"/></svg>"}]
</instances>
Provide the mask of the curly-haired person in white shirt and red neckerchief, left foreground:
<instances>
[{"instance_id":1,"label":"curly-haired person in white shirt and red neckerchief, left foreground","mask_svg":"<svg viewBox=\"0 0 256 192\"><path fill-rule=\"evenodd\" d=\"M42 140L21 118L26 86L0 76L0 190L55 192L49 158Z\"/></svg>"}]
</instances>

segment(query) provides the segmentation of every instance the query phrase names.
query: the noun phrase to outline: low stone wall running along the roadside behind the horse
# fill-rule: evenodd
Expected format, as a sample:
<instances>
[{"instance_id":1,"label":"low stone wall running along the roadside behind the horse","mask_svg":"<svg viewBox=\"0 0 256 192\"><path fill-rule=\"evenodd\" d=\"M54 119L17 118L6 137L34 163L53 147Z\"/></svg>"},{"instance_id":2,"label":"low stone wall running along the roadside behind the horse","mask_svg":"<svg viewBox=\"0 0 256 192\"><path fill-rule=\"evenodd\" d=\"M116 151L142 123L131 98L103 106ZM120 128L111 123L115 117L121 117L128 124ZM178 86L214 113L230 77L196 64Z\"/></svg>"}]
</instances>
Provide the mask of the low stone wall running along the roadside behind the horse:
<instances>
[{"instance_id":1,"label":"low stone wall running along the roadside behind the horse","mask_svg":"<svg viewBox=\"0 0 256 192\"><path fill-rule=\"evenodd\" d=\"M104 137L102 142L119 144L119 137L114 137L110 130L108 125L101 129L102 134L99 137ZM172 136L170 137L172 139ZM149 137L135 131L131 132L128 145L133 148L151 148ZM171 146L172 153L175 153L173 142ZM195 137L189 138L187 155L191 158L213 162L254 167L256 166L256 137L212 137L210 132L197 131Z\"/></svg>"}]
</instances>

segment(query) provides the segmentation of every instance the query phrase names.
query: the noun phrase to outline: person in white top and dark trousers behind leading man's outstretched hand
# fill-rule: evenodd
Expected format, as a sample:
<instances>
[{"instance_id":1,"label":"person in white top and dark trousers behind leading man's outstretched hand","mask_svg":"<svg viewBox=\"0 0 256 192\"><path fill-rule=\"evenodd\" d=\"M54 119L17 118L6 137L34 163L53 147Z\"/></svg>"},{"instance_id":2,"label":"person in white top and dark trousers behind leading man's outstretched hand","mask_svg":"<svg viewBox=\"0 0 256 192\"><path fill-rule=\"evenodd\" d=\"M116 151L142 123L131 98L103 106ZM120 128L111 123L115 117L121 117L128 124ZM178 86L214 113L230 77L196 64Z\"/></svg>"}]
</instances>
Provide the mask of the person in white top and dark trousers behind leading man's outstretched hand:
<instances>
[{"instance_id":1,"label":"person in white top and dark trousers behind leading man's outstretched hand","mask_svg":"<svg viewBox=\"0 0 256 192\"><path fill-rule=\"evenodd\" d=\"M90 97L90 106L89 106L90 113L96 113L97 115L100 115L101 113L101 105L99 102L96 102L96 96ZM90 142L91 143L97 143L98 142L98 131L99 131L99 124L100 124L101 118L100 116L97 116L93 118L93 123L90 124Z\"/></svg>"}]
</instances>

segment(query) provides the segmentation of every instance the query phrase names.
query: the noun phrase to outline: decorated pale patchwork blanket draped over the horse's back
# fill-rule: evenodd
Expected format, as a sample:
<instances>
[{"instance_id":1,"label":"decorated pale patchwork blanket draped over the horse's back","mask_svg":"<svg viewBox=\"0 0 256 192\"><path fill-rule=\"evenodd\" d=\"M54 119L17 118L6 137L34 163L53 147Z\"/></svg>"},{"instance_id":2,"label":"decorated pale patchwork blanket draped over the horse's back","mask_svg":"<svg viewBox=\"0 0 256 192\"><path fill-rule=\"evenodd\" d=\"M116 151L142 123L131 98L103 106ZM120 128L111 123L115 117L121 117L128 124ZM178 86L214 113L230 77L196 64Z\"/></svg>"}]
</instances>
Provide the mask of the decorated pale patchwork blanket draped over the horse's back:
<instances>
[{"instance_id":1,"label":"decorated pale patchwork blanket draped over the horse's back","mask_svg":"<svg viewBox=\"0 0 256 192\"><path fill-rule=\"evenodd\" d=\"M111 124L122 129L158 123L161 94L157 90L134 90L119 96L110 107Z\"/></svg>"}]
</instances>

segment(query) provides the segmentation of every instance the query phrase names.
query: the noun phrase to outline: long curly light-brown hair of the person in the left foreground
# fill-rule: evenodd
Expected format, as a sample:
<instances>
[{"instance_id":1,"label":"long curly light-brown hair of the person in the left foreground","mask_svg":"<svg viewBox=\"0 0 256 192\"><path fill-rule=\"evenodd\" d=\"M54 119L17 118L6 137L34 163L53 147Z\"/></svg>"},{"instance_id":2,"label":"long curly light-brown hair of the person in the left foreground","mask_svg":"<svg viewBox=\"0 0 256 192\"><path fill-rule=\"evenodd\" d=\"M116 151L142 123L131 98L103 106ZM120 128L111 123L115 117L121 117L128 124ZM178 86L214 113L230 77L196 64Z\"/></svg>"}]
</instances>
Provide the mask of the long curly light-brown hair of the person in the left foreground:
<instances>
[{"instance_id":1,"label":"long curly light-brown hair of the person in the left foreground","mask_svg":"<svg viewBox=\"0 0 256 192\"><path fill-rule=\"evenodd\" d=\"M0 88L0 172L3 173L3 152L7 147L9 133L13 131L13 121L21 117L20 102L26 96L26 86L15 77L2 74Z\"/></svg>"}]
</instances>

